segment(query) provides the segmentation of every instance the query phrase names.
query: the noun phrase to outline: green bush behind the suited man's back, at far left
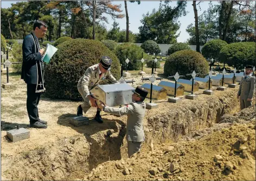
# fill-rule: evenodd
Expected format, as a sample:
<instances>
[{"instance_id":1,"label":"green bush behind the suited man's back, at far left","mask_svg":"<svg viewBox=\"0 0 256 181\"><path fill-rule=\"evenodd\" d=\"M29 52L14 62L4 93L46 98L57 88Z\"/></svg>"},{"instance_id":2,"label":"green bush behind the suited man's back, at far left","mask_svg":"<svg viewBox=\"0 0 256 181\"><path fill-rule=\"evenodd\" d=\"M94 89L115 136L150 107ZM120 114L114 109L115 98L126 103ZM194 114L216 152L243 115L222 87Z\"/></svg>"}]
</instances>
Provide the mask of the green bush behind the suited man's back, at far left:
<instances>
[{"instance_id":1,"label":"green bush behind the suited man's back, at far left","mask_svg":"<svg viewBox=\"0 0 256 181\"><path fill-rule=\"evenodd\" d=\"M22 44L18 44L18 42L14 42L12 45L12 54L14 56L14 62L22 62ZM21 73L22 63L20 64L12 64L11 67L14 71Z\"/></svg>"}]
</instances>

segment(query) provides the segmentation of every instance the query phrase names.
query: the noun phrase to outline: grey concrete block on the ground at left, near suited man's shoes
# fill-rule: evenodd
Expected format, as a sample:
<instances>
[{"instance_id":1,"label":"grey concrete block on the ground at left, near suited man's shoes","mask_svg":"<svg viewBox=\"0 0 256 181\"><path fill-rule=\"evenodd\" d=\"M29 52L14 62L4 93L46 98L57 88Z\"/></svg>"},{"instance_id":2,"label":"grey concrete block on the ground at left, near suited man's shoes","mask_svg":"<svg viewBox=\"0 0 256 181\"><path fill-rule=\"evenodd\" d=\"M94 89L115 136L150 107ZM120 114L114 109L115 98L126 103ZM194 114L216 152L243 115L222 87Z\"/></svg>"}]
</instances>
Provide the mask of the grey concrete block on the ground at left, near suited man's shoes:
<instances>
[{"instance_id":1,"label":"grey concrete block on the ground at left, near suited man's shoes","mask_svg":"<svg viewBox=\"0 0 256 181\"><path fill-rule=\"evenodd\" d=\"M18 142L23 139L28 139L30 132L25 128L9 130L7 131L7 137L12 140L12 142Z\"/></svg>"}]
</instances>

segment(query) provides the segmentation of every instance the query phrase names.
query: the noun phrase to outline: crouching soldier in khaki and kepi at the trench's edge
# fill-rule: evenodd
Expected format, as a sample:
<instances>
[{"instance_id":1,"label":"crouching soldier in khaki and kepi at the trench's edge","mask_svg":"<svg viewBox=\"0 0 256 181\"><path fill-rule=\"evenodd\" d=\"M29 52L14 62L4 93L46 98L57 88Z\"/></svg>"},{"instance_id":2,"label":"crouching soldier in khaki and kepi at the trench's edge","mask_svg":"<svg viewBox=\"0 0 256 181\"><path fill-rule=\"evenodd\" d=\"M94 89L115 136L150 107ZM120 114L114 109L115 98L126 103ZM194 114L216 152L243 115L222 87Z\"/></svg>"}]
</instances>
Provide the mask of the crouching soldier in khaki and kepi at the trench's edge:
<instances>
[{"instance_id":1,"label":"crouching soldier in khaki and kepi at the trench's edge","mask_svg":"<svg viewBox=\"0 0 256 181\"><path fill-rule=\"evenodd\" d=\"M112 84L119 84L116 78L110 72L110 66L112 64L112 59L108 56L101 57L100 63L90 66L84 76L82 76L78 82L78 91L84 103L78 106L77 116L82 116L82 111L85 113L93 106L97 108L97 113L95 115L95 120L98 123L103 123L100 116L101 109L98 108L96 98L91 94L90 90L95 86L99 85L99 82L104 79L108 79ZM91 103L91 104L90 104Z\"/></svg>"}]
</instances>

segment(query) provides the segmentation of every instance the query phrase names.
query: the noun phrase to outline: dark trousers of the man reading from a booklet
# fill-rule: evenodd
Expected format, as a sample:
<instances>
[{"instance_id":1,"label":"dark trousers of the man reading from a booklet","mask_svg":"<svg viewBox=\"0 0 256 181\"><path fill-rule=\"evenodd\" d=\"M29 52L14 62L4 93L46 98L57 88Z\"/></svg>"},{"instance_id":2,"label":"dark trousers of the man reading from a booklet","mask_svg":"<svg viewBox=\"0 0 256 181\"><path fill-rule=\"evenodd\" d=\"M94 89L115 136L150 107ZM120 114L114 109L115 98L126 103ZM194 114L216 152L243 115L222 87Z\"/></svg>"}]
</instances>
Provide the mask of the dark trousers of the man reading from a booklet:
<instances>
[{"instance_id":1,"label":"dark trousers of the man reading from a booklet","mask_svg":"<svg viewBox=\"0 0 256 181\"><path fill-rule=\"evenodd\" d=\"M27 111L30 124L39 120L37 105L40 100L40 92L36 92L36 84L27 84Z\"/></svg>"}]
</instances>

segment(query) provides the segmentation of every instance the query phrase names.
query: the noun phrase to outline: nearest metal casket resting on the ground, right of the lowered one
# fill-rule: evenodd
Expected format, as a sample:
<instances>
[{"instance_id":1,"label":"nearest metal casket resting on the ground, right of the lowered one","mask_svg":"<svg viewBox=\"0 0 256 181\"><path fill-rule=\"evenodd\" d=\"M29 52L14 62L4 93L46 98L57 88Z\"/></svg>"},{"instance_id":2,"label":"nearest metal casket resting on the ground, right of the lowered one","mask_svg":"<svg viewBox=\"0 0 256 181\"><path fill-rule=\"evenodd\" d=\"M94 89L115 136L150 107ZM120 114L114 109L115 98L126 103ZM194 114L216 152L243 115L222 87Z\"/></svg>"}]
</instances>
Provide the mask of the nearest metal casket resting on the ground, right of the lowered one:
<instances>
[{"instance_id":1,"label":"nearest metal casket resting on the ground, right of the lowered one","mask_svg":"<svg viewBox=\"0 0 256 181\"><path fill-rule=\"evenodd\" d=\"M150 85L151 84L143 84L142 88L146 89L149 91L148 95L146 97L150 98ZM153 85L152 86L152 99L166 99L167 97L167 90L164 89L161 86Z\"/></svg>"}]
</instances>

